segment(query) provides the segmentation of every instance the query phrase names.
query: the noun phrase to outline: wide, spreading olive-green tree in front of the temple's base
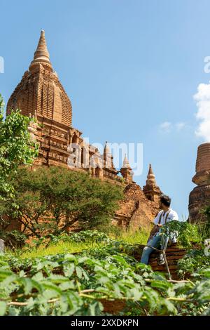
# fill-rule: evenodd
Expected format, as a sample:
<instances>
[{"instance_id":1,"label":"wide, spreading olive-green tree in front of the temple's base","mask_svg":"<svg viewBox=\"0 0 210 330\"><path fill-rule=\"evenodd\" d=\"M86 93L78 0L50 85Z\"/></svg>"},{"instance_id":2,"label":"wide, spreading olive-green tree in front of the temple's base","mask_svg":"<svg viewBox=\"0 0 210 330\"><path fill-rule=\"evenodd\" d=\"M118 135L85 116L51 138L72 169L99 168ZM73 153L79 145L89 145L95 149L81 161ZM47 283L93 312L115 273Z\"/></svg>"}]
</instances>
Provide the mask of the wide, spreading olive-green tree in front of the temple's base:
<instances>
[{"instance_id":1,"label":"wide, spreading olive-green tree in front of the temple's base","mask_svg":"<svg viewBox=\"0 0 210 330\"><path fill-rule=\"evenodd\" d=\"M19 169L12 182L15 203L11 199L1 204L0 213L21 223L27 237L59 235L69 227L107 227L123 198L119 185L57 166ZM9 224L4 221L4 230Z\"/></svg>"}]
</instances>

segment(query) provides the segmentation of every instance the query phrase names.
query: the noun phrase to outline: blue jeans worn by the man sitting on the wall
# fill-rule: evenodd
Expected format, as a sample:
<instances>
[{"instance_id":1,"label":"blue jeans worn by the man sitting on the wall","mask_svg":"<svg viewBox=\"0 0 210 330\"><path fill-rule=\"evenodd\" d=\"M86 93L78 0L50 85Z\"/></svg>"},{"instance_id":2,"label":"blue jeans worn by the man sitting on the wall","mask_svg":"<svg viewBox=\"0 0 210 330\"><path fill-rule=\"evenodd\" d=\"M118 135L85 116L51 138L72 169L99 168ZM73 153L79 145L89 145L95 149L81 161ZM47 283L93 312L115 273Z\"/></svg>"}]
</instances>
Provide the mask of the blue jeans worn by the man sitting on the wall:
<instances>
[{"instance_id":1,"label":"blue jeans worn by the man sitting on the wall","mask_svg":"<svg viewBox=\"0 0 210 330\"><path fill-rule=\"evenodd\" d=\"M155 235L152 239L150 239L147 243L147 245L155 247L158 249L160 247L161 250L167 248L167 244L169 242L169 236L163 237L162 235ZM141 256L141 263L145 263L148 265L148 260L150 258L150 255L152 252L155 250L152 249L151 247L145 246L145 248L142 251L142 256Z\"/></svg>"}]
</instances>

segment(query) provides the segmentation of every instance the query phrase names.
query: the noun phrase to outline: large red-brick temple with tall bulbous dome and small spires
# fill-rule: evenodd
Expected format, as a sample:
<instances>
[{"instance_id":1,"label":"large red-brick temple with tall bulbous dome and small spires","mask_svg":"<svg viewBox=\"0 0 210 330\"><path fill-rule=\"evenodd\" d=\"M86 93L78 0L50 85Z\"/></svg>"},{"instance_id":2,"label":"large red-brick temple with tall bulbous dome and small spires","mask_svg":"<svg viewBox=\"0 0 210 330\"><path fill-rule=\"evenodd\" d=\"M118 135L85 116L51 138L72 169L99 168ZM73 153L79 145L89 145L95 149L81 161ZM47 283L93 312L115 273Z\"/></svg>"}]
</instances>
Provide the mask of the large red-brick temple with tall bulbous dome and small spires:
<instances>
[{"instance_id":1,"label":"large red-brick temple with tall bulbous dome and small spires","mask_svg":"<svg viewBox=\"0 0 210 330\"><path fill-rule=\"evenodd\" d=\"M71 100L50 62L44 31L41 31L29 70L8 100L6 114L17 108L22 114L36 119L36 123L31 121L29 125L31 137L39 146L34 167L64 166L69 170L88 171L94 177L123 185L125 201L120 202L113 223L135 228L151 224L159 211L161 194L151 166L146 186L141 190L133 180L134 173L126 156L122 169L118 171L107 141L103 154L100 154L97 147L83 140L82 132L72 126Z\"/></svg>"}]
</instances>

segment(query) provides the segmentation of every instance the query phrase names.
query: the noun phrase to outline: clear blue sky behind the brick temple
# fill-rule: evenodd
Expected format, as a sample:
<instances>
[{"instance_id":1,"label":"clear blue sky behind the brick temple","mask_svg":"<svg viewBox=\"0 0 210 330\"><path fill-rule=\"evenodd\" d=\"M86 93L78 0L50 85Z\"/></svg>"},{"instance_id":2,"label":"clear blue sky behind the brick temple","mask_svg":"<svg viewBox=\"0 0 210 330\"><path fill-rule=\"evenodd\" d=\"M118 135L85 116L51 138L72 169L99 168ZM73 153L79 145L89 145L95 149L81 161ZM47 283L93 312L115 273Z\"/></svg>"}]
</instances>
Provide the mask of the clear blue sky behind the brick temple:
<instances>
[{"instance_id":1,"label":"clear blue sky behind the brick temple","mask_svg":"<svg viewBox=\"0 0 210 330\"><path fill-rule=\"evenodd\" d=\"M197 86L208 84L208 0L1 0L5 101L28 69L41 29L73 105L73 126L90 143L144 143L179 216L188 216L197 146Z\"/></svg>"}]
</instances>

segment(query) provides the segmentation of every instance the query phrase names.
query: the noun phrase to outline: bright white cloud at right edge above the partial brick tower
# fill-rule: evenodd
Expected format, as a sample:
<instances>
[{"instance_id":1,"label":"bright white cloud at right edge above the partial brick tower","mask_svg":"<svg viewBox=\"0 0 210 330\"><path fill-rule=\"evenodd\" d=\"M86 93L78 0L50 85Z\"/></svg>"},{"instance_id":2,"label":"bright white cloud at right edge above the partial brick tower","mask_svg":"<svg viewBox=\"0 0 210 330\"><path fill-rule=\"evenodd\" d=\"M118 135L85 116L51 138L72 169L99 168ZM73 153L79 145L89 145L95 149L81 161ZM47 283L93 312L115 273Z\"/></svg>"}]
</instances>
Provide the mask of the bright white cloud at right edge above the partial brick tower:
<instances>
[{"instance_id":1,"label":"bright white cloud at right edge above the partial brick tower","mask_svg":"<svg viewBox=\"0 0 210 330\"><path fill-rule=\"evenodd\" d=\"M195 134L210 142L210 84L200 84L193 98L197 101L196 118L200 121Z\"/></svg>"}]
</instances>

